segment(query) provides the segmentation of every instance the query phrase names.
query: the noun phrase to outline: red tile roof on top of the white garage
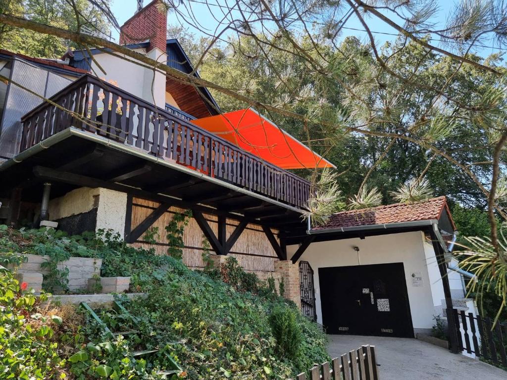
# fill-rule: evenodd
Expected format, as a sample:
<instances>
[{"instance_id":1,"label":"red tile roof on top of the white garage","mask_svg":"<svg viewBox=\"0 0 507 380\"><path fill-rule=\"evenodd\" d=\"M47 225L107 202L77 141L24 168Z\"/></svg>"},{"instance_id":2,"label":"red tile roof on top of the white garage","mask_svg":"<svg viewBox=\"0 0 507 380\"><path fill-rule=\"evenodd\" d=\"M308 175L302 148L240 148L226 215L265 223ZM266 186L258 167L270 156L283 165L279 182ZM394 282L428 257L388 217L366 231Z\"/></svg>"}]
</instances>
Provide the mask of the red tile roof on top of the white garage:
<instances>
[{"instance_id":1,"label":"red tile roof on top of the white garage","mask_svg":"<svg viewBox=\"0 0 507 380\"><path fill-rule=\"evenodd\" d=\"M342 211L331 215L327 223L315 227L315 230L419 220L439 220L444 209L447 211L452 226L455 227L446 198L438 197L410 204L396 203L370 209Z\"/></svg>"}]
</instances>

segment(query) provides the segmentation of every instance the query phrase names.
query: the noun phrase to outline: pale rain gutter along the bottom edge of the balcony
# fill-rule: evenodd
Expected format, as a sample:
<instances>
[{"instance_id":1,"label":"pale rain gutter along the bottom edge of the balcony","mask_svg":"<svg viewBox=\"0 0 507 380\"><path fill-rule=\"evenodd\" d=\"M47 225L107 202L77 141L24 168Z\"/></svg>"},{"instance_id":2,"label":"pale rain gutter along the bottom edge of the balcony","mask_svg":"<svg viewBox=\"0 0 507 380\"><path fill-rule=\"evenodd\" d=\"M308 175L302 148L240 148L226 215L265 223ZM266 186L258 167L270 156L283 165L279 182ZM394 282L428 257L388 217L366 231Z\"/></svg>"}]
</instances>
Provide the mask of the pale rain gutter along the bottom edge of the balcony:
<instances>
[{"instance_id":1,"label":"pale rain gutter along the bottom edge of the balcony","mask_svg":"<svg viewBox=\"0 0 507 380\"><path fill-rule=\"evenodd\" d=\"M113 149L117 149L117 150L123 151L125 153L128 153L128 154L131 154L133 156L139 157L139 158L141 158L143 160L150 161L150 162L152 162L154 164L162 165L162 166L165 166L165 167L177 170L179 172L183 172L183 173L189 174L189 175L191 175L193 177L196 177L196 178L199 178L199 179L203 179L205 181L208 181L208 182L211 182L211 183L214 183L214 184L218 184L218 185L223 186L223 187L227 187L227 188L229 188L229 189L231 189L231 190L233 190L235 192L242 193L242 194L254 197L254 198L258 198L258 199L260 199L262 201L269 202L269 203L271 203L273 205L280 206L280 207L283 207L285 209L288 209L288 210L291 210L291 211L294 211L294 212L297 212L297 213L302 213L301 209L296 208L294 206L287 205L285 203L276 201L274 199L268 198L268 197L263 196L261 194L250 192L249 190L244 189L244 188L239 187L239 186L236 186L236 185L233 185L232 183L228 183L228 182L222 181L221 179L216 179L216 178L213 178L213 177L209 177L209 176L207 176L204 173L200 173L198 171L189 169L189 168L187 168L185 166L178 165L175 162L170 162L170 161L164 160L162 158L151 156L151 155L149 155L147 153L144 153L144 151L141 151L141 150L138 150L136 148L130 147L128 145L125 145L125 144L122 144L122 143L110 140L110 139L108 139L106 137L97 136L95 134L91 134L89 132L85 132L85 131L76 129L74 127L69 127L67 129L64 129L63 131L60 131L60 132L58 132L58 133L56 133L56 134L54 134L54 135L52 135L52 136L44 139L43 141L39 142L38 144L35 144L35 145L29 147L28 149L23 150L21 153L19 153L18 155L16 155L12 159L10 159L10 160L4 162L3 164L1 164L0 165L0 172L6 170L8 168L10 168L11 166L13 166L15 164L18 164L18 163L26 160L27 158L29 158L29 157L31 157L31 156L33 156L33 155L35 155L35 154L43 151L44 149L47 149L47 148L55 145L56 143L58 143L60 141L63 141L64 139L66 139L68 137L71 137L71 136L78 136L78 137L81 137L81 138L84 138L84 139L96 142L98 144L104 145L106 147L111 147ZM171 198L173 198L173 197L171 197Z\"/></svg>"}]
</instances>

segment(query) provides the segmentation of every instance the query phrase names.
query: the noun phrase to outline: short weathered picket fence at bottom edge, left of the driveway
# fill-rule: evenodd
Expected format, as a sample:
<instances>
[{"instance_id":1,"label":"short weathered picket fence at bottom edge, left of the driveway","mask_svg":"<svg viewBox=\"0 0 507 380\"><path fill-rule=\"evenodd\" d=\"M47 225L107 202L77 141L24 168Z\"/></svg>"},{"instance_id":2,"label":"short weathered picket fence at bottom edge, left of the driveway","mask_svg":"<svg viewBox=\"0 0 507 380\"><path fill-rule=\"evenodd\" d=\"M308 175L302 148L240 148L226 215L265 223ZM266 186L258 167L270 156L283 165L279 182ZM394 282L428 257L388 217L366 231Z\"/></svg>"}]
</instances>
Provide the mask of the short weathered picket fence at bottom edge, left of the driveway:
<instances>
[{"instance_id":1,"label":"short weathered picket fence at bottom edge, left of the driveway","mask_svg":"<svg viewBox=\"0 0 507 380\"><path fill-rule=\"evenodd\" d=\"M375 346L361 346L330 362L315 365L308 380L379 380ZM306 380L300 373L297 380Z\"/></svg>"}]
</instances>

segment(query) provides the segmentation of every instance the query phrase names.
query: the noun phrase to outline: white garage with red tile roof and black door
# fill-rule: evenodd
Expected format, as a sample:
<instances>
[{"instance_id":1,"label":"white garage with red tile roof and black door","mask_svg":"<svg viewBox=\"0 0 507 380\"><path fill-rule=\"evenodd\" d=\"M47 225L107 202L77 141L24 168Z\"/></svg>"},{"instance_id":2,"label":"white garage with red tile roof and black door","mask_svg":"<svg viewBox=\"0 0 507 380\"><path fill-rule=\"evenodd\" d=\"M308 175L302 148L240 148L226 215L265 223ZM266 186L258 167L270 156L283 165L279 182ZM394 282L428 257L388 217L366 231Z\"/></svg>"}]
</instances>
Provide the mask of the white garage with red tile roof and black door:
<instances>
[{"instance_id":1,"label":"white garage with red tile roof and black door","mask_svg":"<svg viewBox=\"0 0 507 380\"><path fill-rule=\"evenodd\" d=\"M465 297L449 253L455 230L439 197L342 211L285 238L302 310L330 334L431 334L436 316Z\"/></svg>"}]
</instances>

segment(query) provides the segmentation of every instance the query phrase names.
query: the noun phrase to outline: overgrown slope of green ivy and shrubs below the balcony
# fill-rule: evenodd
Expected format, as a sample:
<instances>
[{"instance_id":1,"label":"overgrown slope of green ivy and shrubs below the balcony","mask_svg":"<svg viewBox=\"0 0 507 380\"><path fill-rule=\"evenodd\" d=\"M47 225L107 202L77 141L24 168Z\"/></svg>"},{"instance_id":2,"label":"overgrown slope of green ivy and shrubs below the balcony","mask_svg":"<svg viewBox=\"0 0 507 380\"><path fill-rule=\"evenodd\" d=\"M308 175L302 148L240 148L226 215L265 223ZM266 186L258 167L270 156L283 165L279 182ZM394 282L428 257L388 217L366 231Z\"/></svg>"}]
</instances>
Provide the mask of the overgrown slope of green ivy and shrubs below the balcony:
<instances>
[{"instance_id":1,"label":"overgrown slope of green ivy and shrubs below the balcony","mask_svg":"<svg viewBox=\"0 0 507 380\"><path fill-rule=\"evenodd\" d=\"M286 379L328 359L326 337L319 327L279 297L273 282L261 283L232 258L220 271L198 272L177 258L103 237L98 243L95 237L45 236L40 231L21 235L22 239L17 232L0 231L0 262L15 261L15 253L38 251L50 255L57 251L60 257L102 257L103 272L135 275L137 290L147 295L122 299L138 318L139 331L111 340L91 318L77 318L80 311L52 309L50 314L62 319L59 324L39 306L39 297L22 290L9 273L0 273L4 324L0 326L0 378L155 379L161 378L155 370L167 367L164 353L168 353L184 369L182 377ZM28 303L20 301L26 296ZM126 324L124 316L111 309L96 311L108 323ZM41 318L44 323L36 322ZM18 321L16 328L6 328L12 320ZM132 351L139 346L160 351L134 358ZM45 356L45 350L50 354ZM23 355L28 352L38 353L29 359L30 366ZM20 359L14 364L16 357Z\"/></svg>"}]
</instances>

